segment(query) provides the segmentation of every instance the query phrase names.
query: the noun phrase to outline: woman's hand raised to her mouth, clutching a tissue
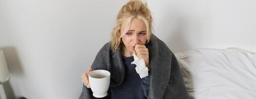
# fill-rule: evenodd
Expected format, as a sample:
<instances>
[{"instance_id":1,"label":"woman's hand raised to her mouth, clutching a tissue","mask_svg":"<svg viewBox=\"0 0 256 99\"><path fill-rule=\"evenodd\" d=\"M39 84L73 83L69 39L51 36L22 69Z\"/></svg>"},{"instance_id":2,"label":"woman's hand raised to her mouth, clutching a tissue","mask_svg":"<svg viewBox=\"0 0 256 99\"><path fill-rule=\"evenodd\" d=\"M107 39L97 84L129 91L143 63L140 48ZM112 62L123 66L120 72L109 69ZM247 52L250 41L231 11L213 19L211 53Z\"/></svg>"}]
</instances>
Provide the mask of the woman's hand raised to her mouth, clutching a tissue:
<instances>
[{"instance_id":1,"label":"woman's hand raised to her mouth, clutching a tissue","mask_svg":"<svg viewBox=\"0 0 256 99\"><path fill-rule=\"evenodd\" d=\"M150 70L149 66L149 53L148 49L144 45L136 45L135 48L135 54L138 56L138 58L143 58L145 60L146 67L148 70Z\"/></svg>"}]
</instances>

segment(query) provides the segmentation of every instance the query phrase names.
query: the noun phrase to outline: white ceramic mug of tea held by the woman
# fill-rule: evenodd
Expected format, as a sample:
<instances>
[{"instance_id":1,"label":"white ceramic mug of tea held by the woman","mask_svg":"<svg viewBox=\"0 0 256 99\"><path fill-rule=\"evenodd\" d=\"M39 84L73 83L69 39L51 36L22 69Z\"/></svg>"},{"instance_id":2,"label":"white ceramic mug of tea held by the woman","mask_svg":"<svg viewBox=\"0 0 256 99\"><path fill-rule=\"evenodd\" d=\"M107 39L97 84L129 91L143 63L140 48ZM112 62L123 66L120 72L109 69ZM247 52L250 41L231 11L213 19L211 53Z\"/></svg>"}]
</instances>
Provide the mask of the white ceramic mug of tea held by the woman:
<instances>
[{"instance_id":1,"label":"white ceramic mug of tea held by the woman","mask_svg":"<svg viewBox=\"0 0 256 99\"><path fill-rule=\"evenodd\" d=\"M96 98L103 98L108 95L110 84L110 72L107 70L94 70L89 73L89 84Z\"/></svg>"}]
</instances>

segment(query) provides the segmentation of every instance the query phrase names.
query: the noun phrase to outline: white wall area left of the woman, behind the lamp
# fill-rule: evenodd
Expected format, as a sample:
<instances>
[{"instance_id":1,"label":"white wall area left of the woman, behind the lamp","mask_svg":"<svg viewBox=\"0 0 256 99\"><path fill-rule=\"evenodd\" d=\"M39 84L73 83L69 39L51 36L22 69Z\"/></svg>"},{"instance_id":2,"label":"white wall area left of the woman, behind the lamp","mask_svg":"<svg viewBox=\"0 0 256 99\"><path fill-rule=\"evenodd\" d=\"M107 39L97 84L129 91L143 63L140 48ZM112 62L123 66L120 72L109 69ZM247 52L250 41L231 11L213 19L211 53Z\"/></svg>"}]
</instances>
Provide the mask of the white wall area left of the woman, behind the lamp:
<instances>
[{"instance_id":1,"label":"white wall area left of the woman, behind the lamp","mask_svg":"<svg viewBox=\"0 0 256 99\"><path fill-rule=\"evenodd\" d=\"M0 0L0 47L6 53L13 95L78 99L82 82L125 1Z\"/></svg>"}]
</instances>

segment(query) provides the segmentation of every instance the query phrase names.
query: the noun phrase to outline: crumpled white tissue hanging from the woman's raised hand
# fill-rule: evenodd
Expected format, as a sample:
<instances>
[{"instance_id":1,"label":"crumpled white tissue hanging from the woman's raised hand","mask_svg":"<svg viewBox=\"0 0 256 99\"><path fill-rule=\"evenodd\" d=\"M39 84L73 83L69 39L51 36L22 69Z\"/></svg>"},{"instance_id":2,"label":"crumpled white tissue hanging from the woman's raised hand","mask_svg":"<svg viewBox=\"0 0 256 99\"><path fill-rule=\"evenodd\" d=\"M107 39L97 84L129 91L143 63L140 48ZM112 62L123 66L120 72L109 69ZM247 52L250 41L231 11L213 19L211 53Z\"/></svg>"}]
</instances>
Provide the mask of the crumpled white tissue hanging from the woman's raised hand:
<instances>
[{"instance_id":1,"label":"crumpled white tissue hanging from the woman's raised hand","mask_svg":"<svg viewBox=\"0 0 256 99\"><path fill-rule=\"evenodd\" d=\"M148 76L148 68L146 67L145 60L143 58L138 59L138 57L133 52L133 58L134 61L132 61L130 64L135 64L135 70L139 74L140 78L144 78Z\"/></svg>"}]
</instances>

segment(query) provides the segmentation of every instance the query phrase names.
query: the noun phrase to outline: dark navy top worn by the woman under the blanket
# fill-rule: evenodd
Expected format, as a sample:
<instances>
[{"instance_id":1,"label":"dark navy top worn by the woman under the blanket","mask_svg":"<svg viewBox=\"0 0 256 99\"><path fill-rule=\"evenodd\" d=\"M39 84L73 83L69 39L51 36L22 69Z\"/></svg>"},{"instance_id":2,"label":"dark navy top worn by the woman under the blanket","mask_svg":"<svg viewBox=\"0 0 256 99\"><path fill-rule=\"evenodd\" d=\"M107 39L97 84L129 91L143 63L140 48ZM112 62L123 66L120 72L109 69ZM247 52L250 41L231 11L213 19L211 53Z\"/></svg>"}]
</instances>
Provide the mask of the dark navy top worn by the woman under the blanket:
<instances>
[{"instance_id":1,"label":"dark navy top worn by the woman under the blanket","mask_svg":"<svg viewBox=\"0 0 256 99\"><path fill-rule=\"evenodd\" d=\"M125 63L125 79L118 87L110 87L112 99L147 99L150 75L140 78L135 70L136 65L130 64L134 59L123 57ZM145 78L147 80L145 80ZM143 90L144 89L144 90Z\"/></svg>"}]
</instances>

